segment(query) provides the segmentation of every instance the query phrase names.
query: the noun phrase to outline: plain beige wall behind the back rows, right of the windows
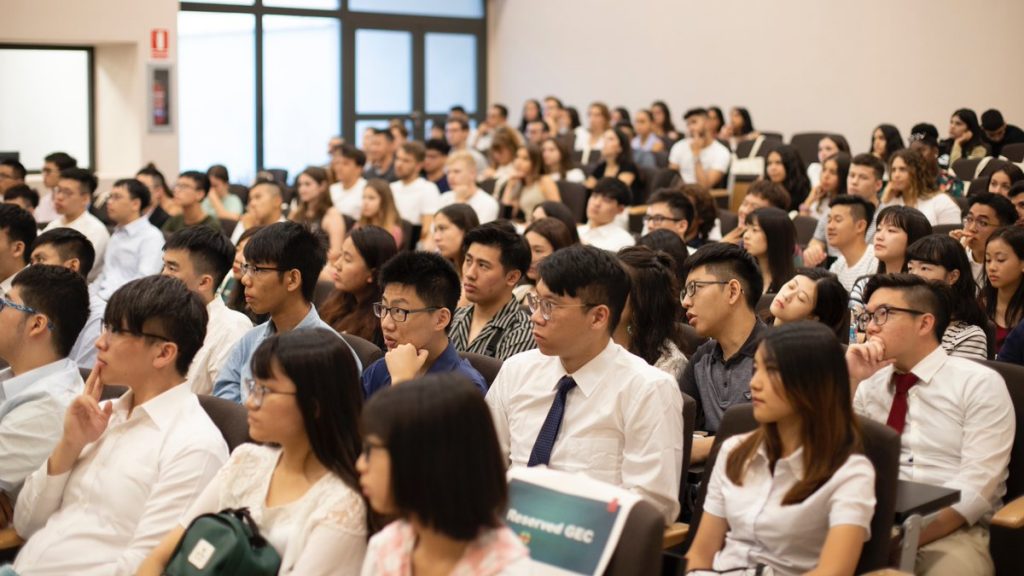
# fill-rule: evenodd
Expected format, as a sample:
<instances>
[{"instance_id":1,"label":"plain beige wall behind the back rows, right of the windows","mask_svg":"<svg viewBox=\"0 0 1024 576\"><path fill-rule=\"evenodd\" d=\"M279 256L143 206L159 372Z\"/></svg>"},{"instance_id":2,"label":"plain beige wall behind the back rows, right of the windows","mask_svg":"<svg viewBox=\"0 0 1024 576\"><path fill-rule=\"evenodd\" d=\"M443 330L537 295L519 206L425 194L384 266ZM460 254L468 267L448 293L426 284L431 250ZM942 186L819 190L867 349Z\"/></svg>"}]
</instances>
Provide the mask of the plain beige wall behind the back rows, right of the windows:
<instances>
[{"instance_id":1,"label":"plain beige wall behind the back rows, right of the windows","mask_svg":"<svg viewBox=\"0 0 1024 576\"><path fill-rule=\"evenodd\" d=\"M759 129L906 137L951 112L1024 125L1021 0L489 0L488 94L630 110L745 106Z\"/></svg>"}]
</instances>

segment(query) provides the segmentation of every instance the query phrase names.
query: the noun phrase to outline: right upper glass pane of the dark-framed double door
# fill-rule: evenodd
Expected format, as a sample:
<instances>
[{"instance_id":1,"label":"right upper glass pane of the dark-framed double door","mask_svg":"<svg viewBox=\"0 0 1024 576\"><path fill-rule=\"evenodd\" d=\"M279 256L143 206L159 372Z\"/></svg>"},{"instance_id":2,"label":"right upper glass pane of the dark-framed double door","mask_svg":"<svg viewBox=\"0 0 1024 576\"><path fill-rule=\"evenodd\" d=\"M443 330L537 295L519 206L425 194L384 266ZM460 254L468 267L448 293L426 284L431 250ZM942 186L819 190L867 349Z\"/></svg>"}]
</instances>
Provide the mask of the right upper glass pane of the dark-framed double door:
<instances>
[{"instance_id":1,"label":"right upper glass pane of the dark-framed double door","mask_svg":"<svg viewBox=\"0 0 1024 576\"><path fill-rule=\"evenodd\" d=\"M462 105L476 113L476 37L428 33L426 44L427 114Z\"/></svg>"}]
</instances>

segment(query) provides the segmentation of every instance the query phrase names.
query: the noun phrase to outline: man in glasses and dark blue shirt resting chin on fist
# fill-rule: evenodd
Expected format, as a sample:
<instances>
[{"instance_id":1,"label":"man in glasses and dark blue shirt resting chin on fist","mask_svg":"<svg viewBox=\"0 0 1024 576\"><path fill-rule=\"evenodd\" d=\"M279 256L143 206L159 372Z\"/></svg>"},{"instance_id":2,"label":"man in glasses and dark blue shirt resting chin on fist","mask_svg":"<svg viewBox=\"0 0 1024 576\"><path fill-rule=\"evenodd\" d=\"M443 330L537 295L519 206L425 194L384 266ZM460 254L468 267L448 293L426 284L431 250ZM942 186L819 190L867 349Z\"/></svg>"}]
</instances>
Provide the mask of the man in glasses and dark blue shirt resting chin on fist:
<instances>
[{"instance_id":1,"label":"man in glasses and dark blue shirt resting chin on fist","mask_svg":"<svg viewBox=\"0 0 1024 576\"><path fill-rule=\"evenodd\" d=\"M374 314L381 319L387 352L362 372L364 395L445 372L465 374L486 393L483 376L459 357L447 337L462 291L452 264L440 254L399 252L381 268L380 279L383 293Z\"/></svg>"}]
</instances>

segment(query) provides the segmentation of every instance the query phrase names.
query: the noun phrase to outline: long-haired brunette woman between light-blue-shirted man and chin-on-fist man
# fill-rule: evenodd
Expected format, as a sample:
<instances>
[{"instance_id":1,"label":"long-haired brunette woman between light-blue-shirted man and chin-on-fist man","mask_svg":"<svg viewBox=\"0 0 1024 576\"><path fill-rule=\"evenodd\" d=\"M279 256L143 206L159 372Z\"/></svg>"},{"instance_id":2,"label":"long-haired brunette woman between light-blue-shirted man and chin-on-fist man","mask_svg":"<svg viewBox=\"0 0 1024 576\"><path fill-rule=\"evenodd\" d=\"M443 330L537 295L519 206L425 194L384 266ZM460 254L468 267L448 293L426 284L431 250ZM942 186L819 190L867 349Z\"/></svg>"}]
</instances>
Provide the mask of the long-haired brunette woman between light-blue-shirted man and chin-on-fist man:
<instances>
[{"instance_id":1,"label":"long-haired brunette woman between light-blue-shirted man and chin-on-fist man","mask_svg":"<svg viewBox=\"0 0 1024 576\"><path fill-rule=\"evenodd\" d=\"M394 237L386 230L366 225L348 235L334 261L334 291L317 311L321 319L337 332L353 334L384 347L380 320L374 302L381 299L378 273L398 253Z\"/></svg>"}]
</instances>

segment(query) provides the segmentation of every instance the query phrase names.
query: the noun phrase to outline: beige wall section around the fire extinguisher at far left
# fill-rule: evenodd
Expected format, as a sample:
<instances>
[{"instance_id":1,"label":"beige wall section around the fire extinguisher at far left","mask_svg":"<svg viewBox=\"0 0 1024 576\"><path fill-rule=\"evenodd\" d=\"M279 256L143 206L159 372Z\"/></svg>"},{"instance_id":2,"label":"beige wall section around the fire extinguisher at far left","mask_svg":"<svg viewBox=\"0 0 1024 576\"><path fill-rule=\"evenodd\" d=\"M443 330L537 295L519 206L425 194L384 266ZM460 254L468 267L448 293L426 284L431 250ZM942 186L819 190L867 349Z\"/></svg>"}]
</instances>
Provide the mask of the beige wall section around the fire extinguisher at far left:
<instances>
[{"instance_id":1,"label":"beige wall section around the fire extinguisher at far left","mask_svg":"<svg viewBox=\"0 0 1024 576\"><path fill-rule=\"evenodd\" d=\"M175 0L3 0L0 42L95 47L96 169L104 181L132 175L153 161L169 176L178 169L178 136L150 133L146 67L150 31L167 29L174 63ZM47 79L59 89L59 79ZM172 78L172 85L176 79ZM177 118L177 98L172 118Z\"/></svg>"}]
</instances>

